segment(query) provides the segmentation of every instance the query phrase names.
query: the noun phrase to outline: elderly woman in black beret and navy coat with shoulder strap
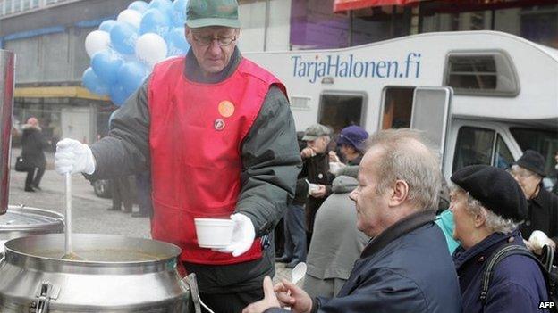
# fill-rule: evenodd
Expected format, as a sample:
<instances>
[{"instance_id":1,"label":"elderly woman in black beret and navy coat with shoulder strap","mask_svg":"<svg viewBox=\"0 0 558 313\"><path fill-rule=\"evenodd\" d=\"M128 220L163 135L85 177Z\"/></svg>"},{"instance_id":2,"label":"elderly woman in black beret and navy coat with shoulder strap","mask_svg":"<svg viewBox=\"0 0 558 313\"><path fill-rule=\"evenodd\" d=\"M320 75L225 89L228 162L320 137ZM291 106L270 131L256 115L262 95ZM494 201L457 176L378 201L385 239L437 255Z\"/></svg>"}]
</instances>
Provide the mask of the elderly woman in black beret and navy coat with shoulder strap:
<instances>
[{"instance_id":1,"label":"elderly woman in black beret and navy coat with shoulder strap","mask_svg":"<svg viewBox=\"0 0 558 313\"><path fill-rule=\"evenodd\" d=\"M534 259L519 254L496 265L486 301L480 300L485 261L506 243L525 246L518 230L527 213L520 186L503 169L486 165L459 169L451 179L463 312L541 312L539 302L548 301L544 276Z\"/></svg>"}]
</instances>

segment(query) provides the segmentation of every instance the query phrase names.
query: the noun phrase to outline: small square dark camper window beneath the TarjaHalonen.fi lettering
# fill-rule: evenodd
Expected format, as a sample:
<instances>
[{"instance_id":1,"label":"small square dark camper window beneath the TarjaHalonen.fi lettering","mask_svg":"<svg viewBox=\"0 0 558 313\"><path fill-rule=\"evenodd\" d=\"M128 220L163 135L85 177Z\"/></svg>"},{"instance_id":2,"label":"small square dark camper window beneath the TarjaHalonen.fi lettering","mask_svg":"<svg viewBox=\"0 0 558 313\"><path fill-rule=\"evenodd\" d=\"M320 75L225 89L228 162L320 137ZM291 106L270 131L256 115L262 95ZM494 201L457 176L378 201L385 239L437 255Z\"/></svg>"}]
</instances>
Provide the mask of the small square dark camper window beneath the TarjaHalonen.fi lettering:
<instances>
[{"instance_id":1,"label":"small square dark camper window beneath the TarjaHalonen.fi lettering","mask_svg":"<svg viewBox=\"0 0 558 313\"><path fill-rule=\"evenodd\" d=\"M342 128L350 125L364 127L364 95L354 94L322 94L317 122L340 133Z\"/></svg>"}]
</instances>

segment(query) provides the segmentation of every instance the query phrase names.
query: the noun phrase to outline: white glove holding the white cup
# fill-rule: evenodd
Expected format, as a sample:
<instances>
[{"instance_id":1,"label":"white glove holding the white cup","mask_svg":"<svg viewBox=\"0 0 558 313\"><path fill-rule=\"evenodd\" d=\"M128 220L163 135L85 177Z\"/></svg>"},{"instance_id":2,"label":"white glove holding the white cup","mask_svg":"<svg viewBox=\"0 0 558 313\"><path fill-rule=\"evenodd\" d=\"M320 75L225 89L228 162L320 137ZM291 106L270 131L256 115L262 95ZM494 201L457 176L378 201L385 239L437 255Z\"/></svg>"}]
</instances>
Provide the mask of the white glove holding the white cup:
<instances>
[{"instance_id":1,"label":"white glove holding the white cup","mask_svg":"<svg viewBox=\"0 0 558 313\"><path fill-rule=\"evenodd\" d=\"M233 257L238 257L244 252L249 251L249 248L252 247L252 243L254 243L254 238L256 237L256 230L254 229L252 220L244 214L232 214L231 219L234 222L231 244L217 251L232 253Z\"/></svg>"}]
</instances>

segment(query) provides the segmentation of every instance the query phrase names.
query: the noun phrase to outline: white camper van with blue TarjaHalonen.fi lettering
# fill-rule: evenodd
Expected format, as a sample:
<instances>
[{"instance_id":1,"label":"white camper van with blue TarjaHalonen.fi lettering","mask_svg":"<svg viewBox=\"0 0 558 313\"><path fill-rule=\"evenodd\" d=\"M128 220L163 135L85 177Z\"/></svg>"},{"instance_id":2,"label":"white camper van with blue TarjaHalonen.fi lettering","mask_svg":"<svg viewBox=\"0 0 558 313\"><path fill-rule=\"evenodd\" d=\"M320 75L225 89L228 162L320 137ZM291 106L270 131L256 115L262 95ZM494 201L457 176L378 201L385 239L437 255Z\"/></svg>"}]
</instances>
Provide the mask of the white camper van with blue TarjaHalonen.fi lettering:
<instances>
[{"instance_id":1,"label":"white camper van with blue TarjaHalonen.fi lettering","mask_svg":"<svg viewBox=\"0 0 558 313\"><path fill-rule=\"evenodd\" d=\"M244 55L287 86L297 130L419 128L439 144L445 177L469 164L506 168L527 149L556 177L558 50L465 31Z\"/></svg>"}]
</instances>

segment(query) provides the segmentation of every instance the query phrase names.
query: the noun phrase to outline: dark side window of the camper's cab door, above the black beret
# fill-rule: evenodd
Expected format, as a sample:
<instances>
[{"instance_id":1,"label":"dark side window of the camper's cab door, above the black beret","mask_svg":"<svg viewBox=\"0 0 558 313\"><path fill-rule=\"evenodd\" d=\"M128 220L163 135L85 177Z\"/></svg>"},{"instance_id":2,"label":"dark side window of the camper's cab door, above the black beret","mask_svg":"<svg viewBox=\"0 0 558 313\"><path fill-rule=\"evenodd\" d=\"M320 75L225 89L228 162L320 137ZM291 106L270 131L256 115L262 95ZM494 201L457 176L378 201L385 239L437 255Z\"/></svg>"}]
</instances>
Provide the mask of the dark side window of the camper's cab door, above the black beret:
<instances>
[{"instance_id":1,"label":"dark side window of the camper's cab door, above the black beret","mask_svg":"<svg viewBox=\"0 0 558 313\"><path fill-rule=\"evenodd\" d=\"M457 134L452 172L468 165L492 161L495 131L486 128L462 127Z\"/></svg>"}]
</instances>

